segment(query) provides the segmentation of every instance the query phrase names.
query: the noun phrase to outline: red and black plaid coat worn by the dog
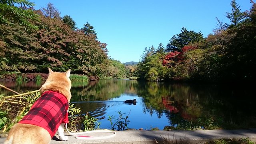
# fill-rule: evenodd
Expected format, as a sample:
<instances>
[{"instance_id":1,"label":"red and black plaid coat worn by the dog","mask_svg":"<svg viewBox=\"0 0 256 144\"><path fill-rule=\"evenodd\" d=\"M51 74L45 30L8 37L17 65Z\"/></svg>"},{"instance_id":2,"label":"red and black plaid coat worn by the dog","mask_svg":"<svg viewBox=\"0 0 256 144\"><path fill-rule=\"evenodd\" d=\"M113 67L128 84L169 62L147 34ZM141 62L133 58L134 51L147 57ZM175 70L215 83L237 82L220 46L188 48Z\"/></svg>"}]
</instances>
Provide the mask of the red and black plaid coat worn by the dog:
<instances>
[{"instance_id":1,"label":"red and black plaid coat worn by the dog","mask_svg":"<svg viewBox=\"0 0 256 144\"><path fill-rule=\"evenodd\" d=\"M68 100L64 95L47 91L36 100L19 123L40 126L53 137L61 123L68 123L67 110Z\"/></svg>"}]
</instances>

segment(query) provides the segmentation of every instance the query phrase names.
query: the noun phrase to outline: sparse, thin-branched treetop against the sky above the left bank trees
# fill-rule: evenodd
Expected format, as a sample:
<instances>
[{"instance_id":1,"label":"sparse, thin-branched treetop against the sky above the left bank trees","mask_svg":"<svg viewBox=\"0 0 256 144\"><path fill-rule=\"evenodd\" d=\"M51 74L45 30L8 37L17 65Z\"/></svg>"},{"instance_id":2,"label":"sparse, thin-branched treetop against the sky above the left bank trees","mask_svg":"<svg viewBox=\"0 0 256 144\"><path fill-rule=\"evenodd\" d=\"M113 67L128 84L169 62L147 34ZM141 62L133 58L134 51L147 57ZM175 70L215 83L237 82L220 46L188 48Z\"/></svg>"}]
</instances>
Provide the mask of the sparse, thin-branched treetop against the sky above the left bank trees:
<instances>
[{"instance_id":1,"label":"sparse, thin-branched treetop against the sky above the left bank trees","mask_svg":"<svg viewBox=\"0 0 256 144\"><path fill-rule=\"evenodd\" d=\"M59 10L52 4L48 3L45 8L40 8L44 16L49 18L60 18Z\"/></svg>"}]
</instances>

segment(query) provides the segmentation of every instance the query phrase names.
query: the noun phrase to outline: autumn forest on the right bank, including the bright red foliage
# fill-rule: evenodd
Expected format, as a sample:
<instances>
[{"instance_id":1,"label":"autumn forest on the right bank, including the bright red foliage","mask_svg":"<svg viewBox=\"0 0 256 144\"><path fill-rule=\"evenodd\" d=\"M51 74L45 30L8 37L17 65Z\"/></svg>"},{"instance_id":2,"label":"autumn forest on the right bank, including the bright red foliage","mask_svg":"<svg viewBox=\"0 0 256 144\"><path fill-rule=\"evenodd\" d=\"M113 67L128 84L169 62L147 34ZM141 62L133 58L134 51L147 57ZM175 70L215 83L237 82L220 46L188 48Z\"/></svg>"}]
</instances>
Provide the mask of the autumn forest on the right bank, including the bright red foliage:
<instances>
[{"instance_id":1,"label":"autumn forest on the right bank, including the bright red foliage","mask_svg":"<svg viewBox=\"0 0 256 144\"><path fill-rule=\"evenodd\" d=\"M256 80L256 4L241 12L232 0L230 24L218 18L213 34L182 27L166 48L145 48L137 74L150 81L252 82Z\"/></svg>"}]
</instances>

